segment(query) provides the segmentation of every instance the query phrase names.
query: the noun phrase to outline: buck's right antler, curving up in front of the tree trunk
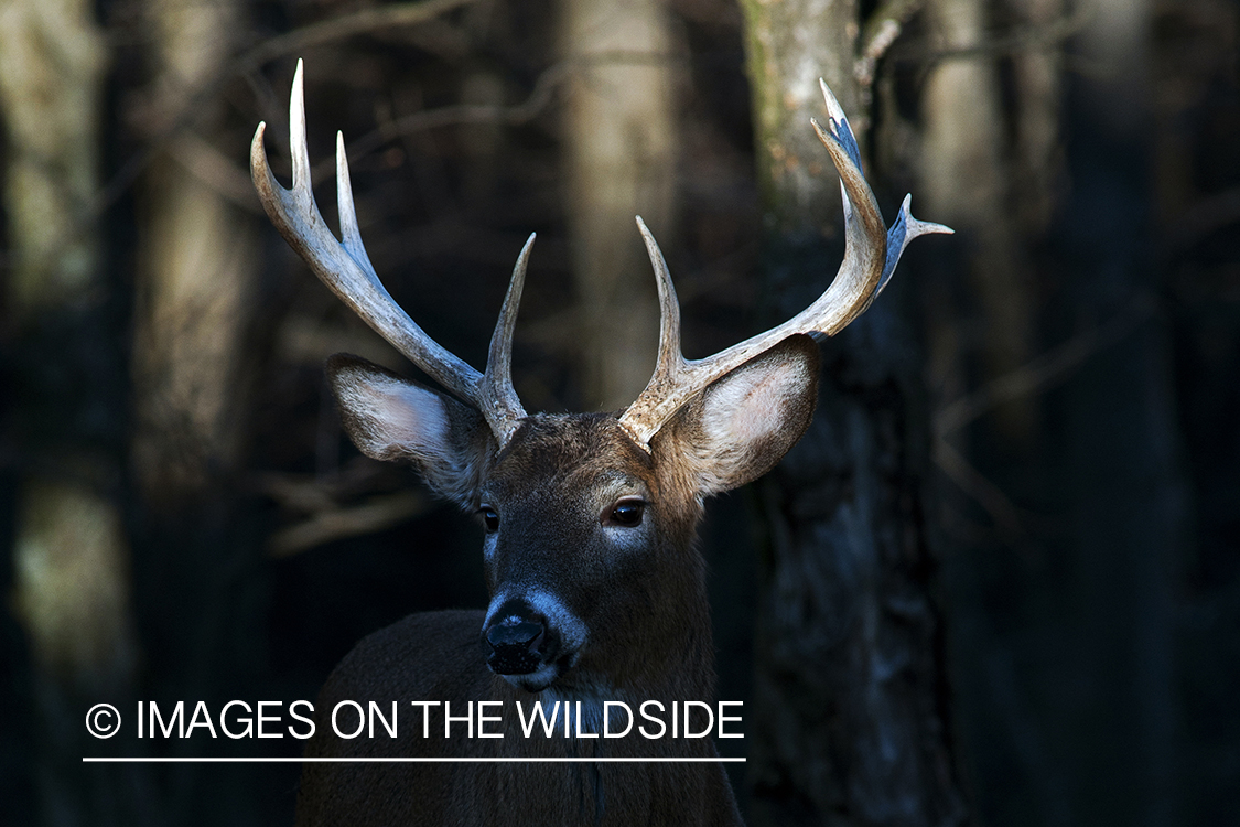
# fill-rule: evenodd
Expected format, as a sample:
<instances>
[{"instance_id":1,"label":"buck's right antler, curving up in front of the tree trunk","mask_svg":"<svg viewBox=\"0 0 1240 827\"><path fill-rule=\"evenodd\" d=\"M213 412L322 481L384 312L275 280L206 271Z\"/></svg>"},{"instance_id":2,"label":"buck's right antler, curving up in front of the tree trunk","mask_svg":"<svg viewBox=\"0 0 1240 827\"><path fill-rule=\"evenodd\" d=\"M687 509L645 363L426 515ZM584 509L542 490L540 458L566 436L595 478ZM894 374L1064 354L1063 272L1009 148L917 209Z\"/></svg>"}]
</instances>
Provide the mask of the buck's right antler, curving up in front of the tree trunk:
<instances>
[{"instance_id":1,"label":"buck's right antler, curving up in front of the tree trunk","mask_svg":"<svg viewBox=\"0 0 1240 827\"><path fill-rule=\"evenodd\" d=\"M861 153L848 119L827 84L818 81L827 103L828 129L810 119L818 140L831 153L839 172L839 190L844 200L844 260L835 280L808 307L777 327L746 338L702 360L686 360L681 352L681 310L672 288L667 263L645 222L637 227L646 242L646 252L658 281L658 304L662 322L658 335L658 358L655 373L624 415L620 424L646 448L668 419L708 384L729 371L754 358L796 334L835 336L853 319L864 312L869 303L883 291L895 272L900 253L910 241L926 233L950 233L942 224L918 221L909 212L911 196L904 198L900 214L887 229L866 176L861 171Z\"/></svg>"}]
</instances>

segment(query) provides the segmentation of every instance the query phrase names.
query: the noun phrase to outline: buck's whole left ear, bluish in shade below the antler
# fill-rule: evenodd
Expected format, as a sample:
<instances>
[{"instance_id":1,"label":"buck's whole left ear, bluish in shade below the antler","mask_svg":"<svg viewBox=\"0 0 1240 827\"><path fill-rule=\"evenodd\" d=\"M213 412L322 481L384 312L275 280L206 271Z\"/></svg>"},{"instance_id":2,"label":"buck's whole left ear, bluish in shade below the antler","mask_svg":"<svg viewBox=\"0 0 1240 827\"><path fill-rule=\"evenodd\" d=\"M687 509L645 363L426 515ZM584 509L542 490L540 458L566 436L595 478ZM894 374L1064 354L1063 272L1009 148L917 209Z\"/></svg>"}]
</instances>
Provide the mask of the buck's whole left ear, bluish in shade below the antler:
<instances>
[{"instance_id":1,"label":"buck's whole left ear, bluish in shade below the antler","mask_svg":"<svg viewBox=\"0 0 1240 827\"><path fill-rule=\"evenodd\" d=\"M357 450L412 462L435 492L472 503L495 448L479 412L357 356L336 353L326 369Z\"/></svg>"}]
</instances>

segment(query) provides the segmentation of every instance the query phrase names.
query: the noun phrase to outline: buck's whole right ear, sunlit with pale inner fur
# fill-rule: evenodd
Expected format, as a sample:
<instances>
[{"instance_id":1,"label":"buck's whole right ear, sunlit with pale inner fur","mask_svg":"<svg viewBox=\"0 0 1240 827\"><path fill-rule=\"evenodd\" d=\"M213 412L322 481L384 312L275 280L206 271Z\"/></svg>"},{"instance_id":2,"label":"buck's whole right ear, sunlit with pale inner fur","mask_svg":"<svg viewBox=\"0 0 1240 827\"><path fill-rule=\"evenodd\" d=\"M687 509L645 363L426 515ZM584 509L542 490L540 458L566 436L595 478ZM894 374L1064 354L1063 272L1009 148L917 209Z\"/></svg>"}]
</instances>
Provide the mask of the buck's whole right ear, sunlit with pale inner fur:
<instances>
[{"instance_id":1,"label":"buck's whole right ear, sunlit with pale inner fur","mask_svg":"<svg viewBox=\"0 0 1240 827\"><path fill-rule=\"evenodd\" d=\"M791 336L715 379L677 414L680 450L711 496L775 467L810 427L818 346Z\"/></svg>"}]
</instances>

